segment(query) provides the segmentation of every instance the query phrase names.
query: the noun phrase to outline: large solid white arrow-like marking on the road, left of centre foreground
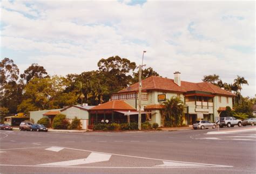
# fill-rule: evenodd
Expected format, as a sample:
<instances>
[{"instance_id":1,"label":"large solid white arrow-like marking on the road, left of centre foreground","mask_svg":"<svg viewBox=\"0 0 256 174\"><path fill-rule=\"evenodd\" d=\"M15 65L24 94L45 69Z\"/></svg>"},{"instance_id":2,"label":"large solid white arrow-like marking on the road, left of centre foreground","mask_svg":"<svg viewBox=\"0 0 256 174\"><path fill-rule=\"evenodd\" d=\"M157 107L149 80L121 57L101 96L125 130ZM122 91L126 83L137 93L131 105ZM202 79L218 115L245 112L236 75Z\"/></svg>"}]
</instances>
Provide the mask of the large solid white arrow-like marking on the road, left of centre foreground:
<instances>
[{"instance_id":1,"label":"large solid white arrow-like marking on the road, left of centre foreground","mask_svg":"<svg viewBox=\"0 0 256 174\"><path fill-rule=\"evenodd\" d=\"M83 159L75 159L70 161L62 161L62 162L38 164L38 165L70 166L70 165L90 164L90 163L109 161L110 157L111 155L109 154L99 154L99 153L92 152L87 158L83 158Z\"/></svg>"}]
</instances>

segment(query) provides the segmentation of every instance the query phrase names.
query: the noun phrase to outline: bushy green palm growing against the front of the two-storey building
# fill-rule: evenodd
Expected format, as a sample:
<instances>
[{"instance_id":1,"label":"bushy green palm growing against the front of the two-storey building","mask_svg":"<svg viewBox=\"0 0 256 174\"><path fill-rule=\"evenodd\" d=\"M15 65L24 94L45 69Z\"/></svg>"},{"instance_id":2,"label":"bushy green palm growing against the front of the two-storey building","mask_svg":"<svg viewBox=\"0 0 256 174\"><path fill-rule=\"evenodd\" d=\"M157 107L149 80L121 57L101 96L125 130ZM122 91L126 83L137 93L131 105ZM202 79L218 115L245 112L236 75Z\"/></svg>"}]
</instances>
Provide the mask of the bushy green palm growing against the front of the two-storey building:
<instances>
[{"instance_id":1,"label":"bushy green palm growing against the front of the two-storey building","mask_svg":"<svg viewBox=\"0 0 256 174\"><path fill-rule=\"evenodd\" d=\"M164 113L167 119L171 121L171 126L173 125L178 126L181 121L181 117L184 110L183 101L181 101L176 96L172 96L171 99L167 99L165 102L163 102L163 105L164 105Z\"/></svg>"}]
</instances>

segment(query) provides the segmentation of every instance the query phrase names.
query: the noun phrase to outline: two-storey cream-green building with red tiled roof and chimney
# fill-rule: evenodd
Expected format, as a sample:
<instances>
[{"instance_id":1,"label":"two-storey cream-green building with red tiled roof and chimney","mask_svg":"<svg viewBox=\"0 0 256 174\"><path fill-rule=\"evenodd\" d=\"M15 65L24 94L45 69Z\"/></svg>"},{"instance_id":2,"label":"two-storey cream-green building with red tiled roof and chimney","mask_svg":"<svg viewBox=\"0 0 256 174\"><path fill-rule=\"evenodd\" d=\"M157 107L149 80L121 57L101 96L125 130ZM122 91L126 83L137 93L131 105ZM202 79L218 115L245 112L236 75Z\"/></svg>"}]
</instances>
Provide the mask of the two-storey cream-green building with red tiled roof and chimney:
<instances>
[{"instance_id":1,"label":"two-storey cream-green building with red tiled roof and chimney","mask_svg":"<svg viewBox=\"0 0 256 174\"><path fill-rule=\"evenodd\" d=\"M137 109L138 90L139 84L135 83L112 94L111 100L123 100ZM177 96L185 104L183 123L192 124L200 119L215 121L215 117L225 110L226 106L232 108L232 97L235 95L208 82L181 81L179 72L174 73L174 79L151 76L142 81L141 97L142 108L150 113L150 116L147 116L149 122L164 125L162 104L172 96Z\"/></svg>"}]
</instances>

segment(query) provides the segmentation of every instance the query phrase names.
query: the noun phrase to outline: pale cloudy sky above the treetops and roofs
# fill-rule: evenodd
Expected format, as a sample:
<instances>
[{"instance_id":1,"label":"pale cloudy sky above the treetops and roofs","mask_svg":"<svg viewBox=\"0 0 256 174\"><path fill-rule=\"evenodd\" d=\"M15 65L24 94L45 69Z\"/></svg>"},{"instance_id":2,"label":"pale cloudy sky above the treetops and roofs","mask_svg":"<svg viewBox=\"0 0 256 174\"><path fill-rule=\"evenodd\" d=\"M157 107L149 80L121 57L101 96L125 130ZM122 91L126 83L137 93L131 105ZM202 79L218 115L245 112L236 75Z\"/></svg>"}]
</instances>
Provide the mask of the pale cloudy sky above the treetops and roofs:
<instances>
[{"instance_id":1,"label":"pale cloudy sky above the treetops and roofs","mask_svg":"<svg viewBox=\"0 0 256 174\"><path fill-rule=\"evenodd\" d=\"M23 73L31 64L50 75L96 70L119 55L161 76L201 82L237 75L255 96L255 2L2 1L1 59Z\"/></svg>"}]
</instances>

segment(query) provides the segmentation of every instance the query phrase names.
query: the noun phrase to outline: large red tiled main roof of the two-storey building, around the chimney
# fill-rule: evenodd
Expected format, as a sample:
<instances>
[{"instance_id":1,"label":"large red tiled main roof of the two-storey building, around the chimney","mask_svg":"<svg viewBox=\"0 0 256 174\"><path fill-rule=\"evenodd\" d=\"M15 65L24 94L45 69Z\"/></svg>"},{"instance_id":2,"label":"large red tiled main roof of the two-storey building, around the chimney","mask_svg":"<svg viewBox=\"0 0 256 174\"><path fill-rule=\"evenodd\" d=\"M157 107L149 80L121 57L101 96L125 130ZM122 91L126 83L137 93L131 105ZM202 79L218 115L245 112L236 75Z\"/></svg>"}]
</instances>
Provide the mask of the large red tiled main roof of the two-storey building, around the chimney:
<instances>
[{"instance_id":1,"label":"large red tiled main roof of the two-storey building, around the chimney","mask_svg":"<svg viewBox=\"0 0 256 174\"><path fill-rule=\"evenodd\" d=\"M174 83L173 79L161 78L159 76L150 76L142 81L142 90L161 90L161 91L172 91L186 93L188 91L203 91L210 92L212 94L222 94L235 96L234 94L225 91L217 86L212 85L208 82L193 83L187 81L181 81L181 86ZM130 87L127 87L118 93L132 92L139 90L139 83L134 83Z\"/></svg>"}]
</instances>

